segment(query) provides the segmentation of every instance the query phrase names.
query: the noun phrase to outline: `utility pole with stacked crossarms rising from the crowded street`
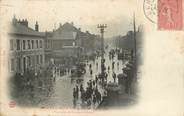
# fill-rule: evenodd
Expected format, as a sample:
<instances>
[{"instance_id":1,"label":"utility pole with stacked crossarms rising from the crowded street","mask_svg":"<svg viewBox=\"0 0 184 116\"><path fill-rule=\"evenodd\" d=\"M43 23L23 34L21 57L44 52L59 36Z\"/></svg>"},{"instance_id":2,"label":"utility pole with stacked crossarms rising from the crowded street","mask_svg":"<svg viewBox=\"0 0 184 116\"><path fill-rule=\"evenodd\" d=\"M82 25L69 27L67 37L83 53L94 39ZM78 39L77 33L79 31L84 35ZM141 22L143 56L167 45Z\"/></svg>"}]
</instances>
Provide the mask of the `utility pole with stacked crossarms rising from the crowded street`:
<instances>
[{"instance_id":1,"label":"utility pole with stacked crossarms rising from the crowded street","mask_svg":"<svg viewBox=\"0 0 184 116\"><path fill-rule=\"evenodd\" d=\"M104 59L104 29L107 28L107 24L98 24L97 28L100 29L101 33L101 74L103 76L105 72L105 59Z\"/></svg>"}]
</instances>

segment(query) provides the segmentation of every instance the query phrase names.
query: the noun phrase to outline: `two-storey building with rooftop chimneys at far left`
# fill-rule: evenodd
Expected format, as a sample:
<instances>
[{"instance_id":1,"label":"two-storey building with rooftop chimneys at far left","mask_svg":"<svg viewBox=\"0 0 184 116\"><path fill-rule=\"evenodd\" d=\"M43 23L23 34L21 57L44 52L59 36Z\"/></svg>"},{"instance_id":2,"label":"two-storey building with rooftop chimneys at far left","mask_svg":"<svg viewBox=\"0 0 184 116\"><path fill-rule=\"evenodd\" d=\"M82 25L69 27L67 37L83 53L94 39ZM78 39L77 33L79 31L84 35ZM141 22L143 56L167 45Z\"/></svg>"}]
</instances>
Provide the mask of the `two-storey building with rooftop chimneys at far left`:
<instances>
[{"instance_id":1,"label":"two-storey building with rooftop chimneys at far left","mask_svg":"<svg viewBox=\"0 0 184 116\"><path fill-rule=\"evenodd\" d=\"M27 19L13 18L9 35L9 71L24 73L44 65L45 33L39 32L38 22L35 30L28 26Z\"/></svg>"}]
</instances>

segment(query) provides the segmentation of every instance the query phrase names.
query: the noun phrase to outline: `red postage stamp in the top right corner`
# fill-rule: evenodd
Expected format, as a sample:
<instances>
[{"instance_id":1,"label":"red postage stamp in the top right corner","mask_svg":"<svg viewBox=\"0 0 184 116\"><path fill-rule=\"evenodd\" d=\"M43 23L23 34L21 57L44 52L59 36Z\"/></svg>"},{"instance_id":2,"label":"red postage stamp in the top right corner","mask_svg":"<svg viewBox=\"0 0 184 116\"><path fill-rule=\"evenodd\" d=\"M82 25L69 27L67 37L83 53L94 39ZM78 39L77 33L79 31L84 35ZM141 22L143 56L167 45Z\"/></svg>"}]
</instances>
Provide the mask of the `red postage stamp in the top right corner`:
<instances>
[{"instance_id":1,"label":"red postage stamp in the top right corner","mask_svg":"<svg viewBox=\"0 0 184 116\"><path fill-rule=\"evenodd\" d=\"M181 30L182 0L158 0L158 29Z\"/></svg>"}]
</instances>

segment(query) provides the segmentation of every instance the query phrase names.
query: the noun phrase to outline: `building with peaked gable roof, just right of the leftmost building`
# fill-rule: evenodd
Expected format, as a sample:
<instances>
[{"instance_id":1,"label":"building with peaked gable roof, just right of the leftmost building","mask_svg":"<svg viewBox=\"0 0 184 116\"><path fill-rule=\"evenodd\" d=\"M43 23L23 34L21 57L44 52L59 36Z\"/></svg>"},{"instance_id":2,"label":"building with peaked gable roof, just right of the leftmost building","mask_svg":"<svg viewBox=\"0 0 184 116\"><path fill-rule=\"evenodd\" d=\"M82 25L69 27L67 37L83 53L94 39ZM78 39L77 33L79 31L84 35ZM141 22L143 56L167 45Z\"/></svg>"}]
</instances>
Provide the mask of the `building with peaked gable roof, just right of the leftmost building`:
<instances>
[{"instance_id":1,"label":"building with peaked gable roof, just right of the leftmost building","mask_svg":"<svg viewBox=\"0 0 184 116\"><path fill-rule=\"evenodd\" d=\"M55 64L62 64L66 57L77 58L82 49L78 46L80 43L78 33L79 30L73 23L60 24L53 32L46 32L46 62L53 59Z\"/></svg>"}]
</instances>

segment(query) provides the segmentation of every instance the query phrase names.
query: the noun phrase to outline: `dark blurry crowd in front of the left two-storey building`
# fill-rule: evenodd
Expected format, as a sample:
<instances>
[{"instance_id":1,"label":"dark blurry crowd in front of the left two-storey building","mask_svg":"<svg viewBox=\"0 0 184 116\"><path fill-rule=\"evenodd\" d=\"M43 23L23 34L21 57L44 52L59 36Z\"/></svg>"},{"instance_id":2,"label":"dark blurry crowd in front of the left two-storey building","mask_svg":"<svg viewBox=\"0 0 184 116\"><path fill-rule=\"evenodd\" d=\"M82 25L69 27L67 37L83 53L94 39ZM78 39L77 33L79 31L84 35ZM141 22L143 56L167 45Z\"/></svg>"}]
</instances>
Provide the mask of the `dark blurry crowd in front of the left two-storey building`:
<instances>
[{"instance_id":1,"label":"dark blurry crowd in front of the left two-storey building","mask_svg":"<svg viewBox=\"0 0 184 116\"><path fill-rule=\"evenodd\" d=\"M40 69L38 72L27 69L24 73L15 73L12 78L12 96L17 102L27 102L36 105L43 96L49 97L53 91L55 78L50 68ZM20 103L20 104L21 104Z\"/></svg>"}]
</instances>

